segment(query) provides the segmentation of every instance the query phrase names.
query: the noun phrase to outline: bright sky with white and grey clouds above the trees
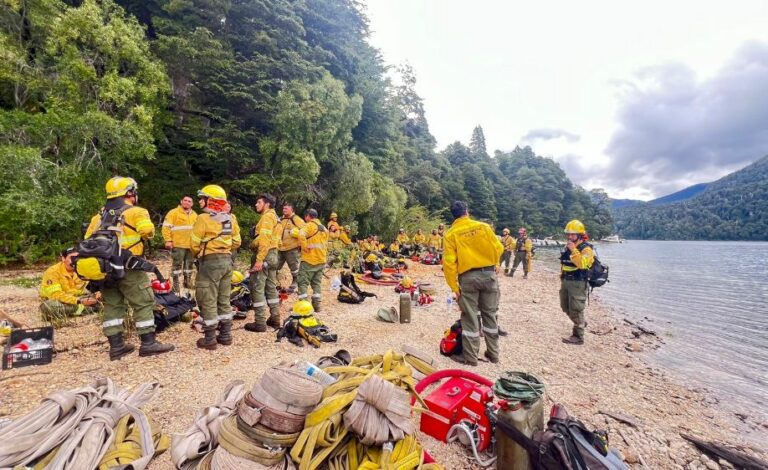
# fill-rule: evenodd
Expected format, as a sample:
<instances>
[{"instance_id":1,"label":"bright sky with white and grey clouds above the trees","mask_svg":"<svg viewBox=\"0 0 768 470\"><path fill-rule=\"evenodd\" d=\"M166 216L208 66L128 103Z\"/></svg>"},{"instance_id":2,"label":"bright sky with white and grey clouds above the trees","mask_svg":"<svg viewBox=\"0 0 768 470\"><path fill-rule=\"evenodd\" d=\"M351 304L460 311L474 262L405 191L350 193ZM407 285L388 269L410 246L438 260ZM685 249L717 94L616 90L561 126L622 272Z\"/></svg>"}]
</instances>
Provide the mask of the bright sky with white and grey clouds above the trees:
<instances>
[{"instance_id":1,"label":"bright sky with white and grey clouds above the trees","mask_svg":"<svg viewBox=\"0 0 768 470\"><path fill-rule=\"evenodd\" d=\"M587 189L653 199L768 155L768 1L367 0L438 149L481 125Z\"/></svg>"}]
</instances>

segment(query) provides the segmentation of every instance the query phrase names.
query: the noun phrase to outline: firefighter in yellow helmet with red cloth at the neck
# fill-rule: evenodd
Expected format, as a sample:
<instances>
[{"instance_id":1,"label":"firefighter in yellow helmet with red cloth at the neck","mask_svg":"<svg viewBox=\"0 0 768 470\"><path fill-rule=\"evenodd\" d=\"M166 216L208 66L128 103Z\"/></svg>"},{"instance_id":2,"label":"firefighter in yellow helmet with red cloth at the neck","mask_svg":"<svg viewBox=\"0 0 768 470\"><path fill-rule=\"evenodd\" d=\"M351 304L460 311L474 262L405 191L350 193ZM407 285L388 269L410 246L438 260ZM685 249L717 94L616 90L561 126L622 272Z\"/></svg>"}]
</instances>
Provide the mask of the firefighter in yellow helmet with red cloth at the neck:
<instances>
[{"instance_id":1,"label":"firefighter in yellow helmet with red cloth at the neck","mask_svg":"<svg viewBox=\"0 0 768 470\"><path fill-rule=\"evenodd\" d=\"M232 252L241 244L240 227L229 213L227 193L209 184L198 191L203 213L195 220L190 250L198 260L195 298L203 316L205 336L197 340L201 349L232 344ZM219 330L218 336L216 330Z\"/></svg>"}]
</instances>

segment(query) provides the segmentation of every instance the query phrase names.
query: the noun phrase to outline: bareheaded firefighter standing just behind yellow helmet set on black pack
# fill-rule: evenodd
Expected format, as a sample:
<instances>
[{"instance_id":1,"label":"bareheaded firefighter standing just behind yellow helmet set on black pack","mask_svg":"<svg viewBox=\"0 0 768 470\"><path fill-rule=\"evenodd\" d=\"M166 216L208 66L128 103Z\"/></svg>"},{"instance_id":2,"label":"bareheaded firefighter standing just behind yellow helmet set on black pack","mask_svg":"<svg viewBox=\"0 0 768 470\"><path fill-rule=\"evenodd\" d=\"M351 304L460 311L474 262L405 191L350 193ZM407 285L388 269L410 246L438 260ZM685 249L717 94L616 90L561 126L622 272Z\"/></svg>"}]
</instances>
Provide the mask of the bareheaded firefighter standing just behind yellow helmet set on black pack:
<instances>
[{"instance_id":1,"label":"bareheaded firefighter standing just behind yellow helmet set on black pack","mask_svg":"<svg viewBox=\"0 0 768 470\"><path fill-rule=\"evenodd\" d=\"M307 300L307 288L312 287L312 307L320 312L323 288L323 269L327 258L326 243L328 229L317 220L317 211L308 209L304 213L306 225L294 229L301 245L301 267L299 268L299 300Z\"/></svg>"}]
</instances>

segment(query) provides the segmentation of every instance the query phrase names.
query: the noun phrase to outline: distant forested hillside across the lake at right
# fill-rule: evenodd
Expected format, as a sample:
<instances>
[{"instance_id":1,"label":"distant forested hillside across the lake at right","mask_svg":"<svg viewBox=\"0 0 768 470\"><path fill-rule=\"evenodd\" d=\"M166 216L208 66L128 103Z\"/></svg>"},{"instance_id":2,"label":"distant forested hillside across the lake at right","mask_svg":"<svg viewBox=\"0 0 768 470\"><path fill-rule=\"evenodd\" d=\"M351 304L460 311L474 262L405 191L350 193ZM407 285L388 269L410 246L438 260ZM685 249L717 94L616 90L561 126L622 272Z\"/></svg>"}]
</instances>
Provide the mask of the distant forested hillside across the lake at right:
<instances>
[{"instance_id":1,"label":"distant forested hillside across the lake at right","mask_svg":"<svg viewBox=\"0 0 768 470\"><path fill-rule=\"evenodd\" d=\"M768 240L768 156L681 202L614 210L626 238Z\"/></svg>"}]
</instances>

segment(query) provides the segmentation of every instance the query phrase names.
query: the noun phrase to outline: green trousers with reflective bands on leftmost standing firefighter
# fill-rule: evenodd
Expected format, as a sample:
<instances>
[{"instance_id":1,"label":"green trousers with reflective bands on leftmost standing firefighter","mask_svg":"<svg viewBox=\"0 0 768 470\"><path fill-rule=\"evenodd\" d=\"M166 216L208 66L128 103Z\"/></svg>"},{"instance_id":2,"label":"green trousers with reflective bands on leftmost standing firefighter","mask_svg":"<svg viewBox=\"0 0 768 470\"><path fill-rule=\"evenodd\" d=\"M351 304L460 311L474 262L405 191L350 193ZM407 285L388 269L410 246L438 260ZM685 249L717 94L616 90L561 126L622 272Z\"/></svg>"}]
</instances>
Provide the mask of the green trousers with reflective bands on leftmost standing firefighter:
<instances>
[{"instance_id":1,"label":"green trousers with reflective bands on leftmost standing firefighter","mask_svg":"<svg viewBox=\"0 0 768 470\"><path fill-rule=\"evenodd\" d=\"M155 331L155 316L152 313L155 295L152 293L147 273L126 270L125 277L114 287L104 287L101 295L104 299L104 323L101 327L105 335L112 336L123 332L126 303L133 310L136 331L140 335Z\"/></svg>"}]
</instances>

